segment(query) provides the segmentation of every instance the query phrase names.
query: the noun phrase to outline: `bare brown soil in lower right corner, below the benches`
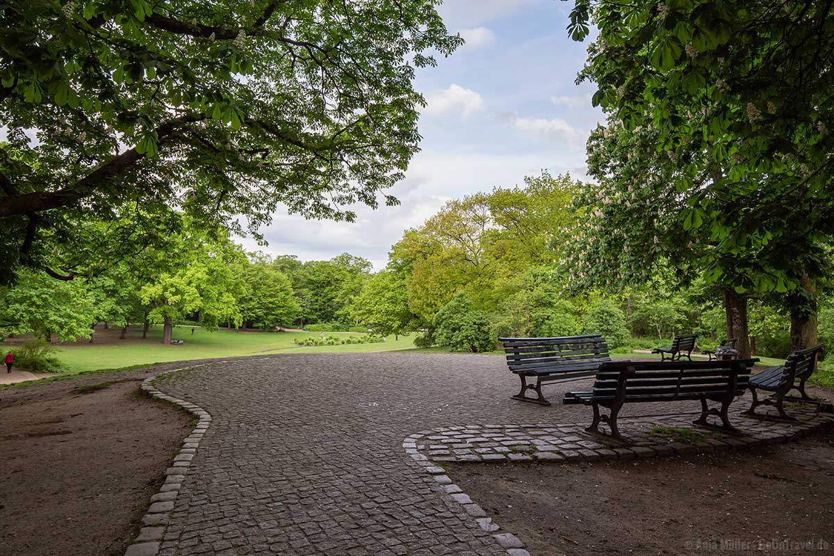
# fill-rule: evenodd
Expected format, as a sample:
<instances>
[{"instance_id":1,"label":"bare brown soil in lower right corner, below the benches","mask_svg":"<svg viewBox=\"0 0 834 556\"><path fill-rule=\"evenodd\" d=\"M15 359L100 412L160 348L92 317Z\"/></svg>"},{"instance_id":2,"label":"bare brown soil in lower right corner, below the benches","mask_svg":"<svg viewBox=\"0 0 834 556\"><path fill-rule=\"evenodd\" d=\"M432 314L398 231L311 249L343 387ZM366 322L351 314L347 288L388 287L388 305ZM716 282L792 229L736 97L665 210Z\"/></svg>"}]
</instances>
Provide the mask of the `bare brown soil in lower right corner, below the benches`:
<instances>
[{"instance_id":1,"label":"bare brown soil in lower right corner, below the benches","mask_svg":"<svg viewBox=\"0 0 834 556\"><path fill-rule=\"evenodd\" d=\"M530 553L834 552L834 434L746 452L449 466Z\"/></svg>"}]
</instances>

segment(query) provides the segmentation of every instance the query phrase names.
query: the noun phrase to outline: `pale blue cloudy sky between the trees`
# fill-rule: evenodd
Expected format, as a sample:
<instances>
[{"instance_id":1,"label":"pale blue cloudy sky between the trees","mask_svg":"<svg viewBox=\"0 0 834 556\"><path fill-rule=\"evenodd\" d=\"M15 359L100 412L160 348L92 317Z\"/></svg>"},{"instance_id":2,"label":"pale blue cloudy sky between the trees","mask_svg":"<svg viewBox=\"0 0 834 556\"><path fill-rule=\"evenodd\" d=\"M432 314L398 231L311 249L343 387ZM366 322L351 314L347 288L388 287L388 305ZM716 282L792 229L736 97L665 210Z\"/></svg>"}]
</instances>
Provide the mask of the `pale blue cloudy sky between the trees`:
<instances>
[{"instance_id":1,"label":"pale blue cloudy sky between the trees","mask_svg":"<svg viewBox=\"0 0 834 556\"><path fill-rule=\"evenodd\" d=\"M513 187L547 169L585 178L585 139L603 120L590 104L592 83L575 85L586 43L565 28L571 2L445 0L450 33L466 43L436 68L418 70L420 153L389 190L398 207L354 207L354 223L276 213L262 228L269 246L244 238L247 250L301 260L351 253L384 268L389 248L452 198Z\"/></svg>"}]
</instances>

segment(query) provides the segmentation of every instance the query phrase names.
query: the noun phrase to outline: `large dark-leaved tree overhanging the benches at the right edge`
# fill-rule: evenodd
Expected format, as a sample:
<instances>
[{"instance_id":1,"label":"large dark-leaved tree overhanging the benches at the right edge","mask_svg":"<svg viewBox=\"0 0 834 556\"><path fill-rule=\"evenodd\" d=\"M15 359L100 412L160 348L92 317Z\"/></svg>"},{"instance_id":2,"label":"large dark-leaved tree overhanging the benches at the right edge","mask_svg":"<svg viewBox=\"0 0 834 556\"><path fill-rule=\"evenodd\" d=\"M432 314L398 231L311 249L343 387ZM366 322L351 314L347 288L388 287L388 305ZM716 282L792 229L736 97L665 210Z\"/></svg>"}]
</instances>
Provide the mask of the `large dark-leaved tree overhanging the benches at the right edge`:
<instances>
[{"instance_id":1,"label":"large dark-leaved tree overhanging the benches at the right edge","mask_svg":"<svg viewBox=\"0 0 834 556\"><path fill-rule=\"evenodd\" d=\"M599 34L580 80L628 130L657 133L676 163L684 228L711 240L705 278L735 273L728 323L746 318L739 294L776 292L791 303L791 336L816 339L816 281L834 233L831 3L596 3L576 0L569 31ZM746 300L745 300L746 303ZM731 324L728 324L731 328ZM742 350L743 352L744 350Z\"/></svg>"}]
</instances>

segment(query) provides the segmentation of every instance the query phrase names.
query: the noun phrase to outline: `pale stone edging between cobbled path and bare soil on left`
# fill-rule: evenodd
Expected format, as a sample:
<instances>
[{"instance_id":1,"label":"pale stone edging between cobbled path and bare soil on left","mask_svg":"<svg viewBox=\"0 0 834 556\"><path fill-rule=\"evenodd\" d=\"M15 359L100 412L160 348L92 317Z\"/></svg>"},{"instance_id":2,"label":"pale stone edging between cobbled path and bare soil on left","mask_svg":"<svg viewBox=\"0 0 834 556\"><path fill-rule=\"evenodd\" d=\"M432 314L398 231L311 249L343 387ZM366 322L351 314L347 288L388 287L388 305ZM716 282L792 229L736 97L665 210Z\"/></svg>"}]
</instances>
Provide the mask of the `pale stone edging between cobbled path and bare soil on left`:
<instances>
[{"instance_id":1,"label":"pale stone edging between cobbled path and bare soil on left","mask_svg":"<svg viewBox=\"0 0 834 556\"><path fill-rule=\"evenodd\" d=\"M124 552L124 556L156 556L159 552L159 545L165 537L165 531L168 528L168 522L171 518L174 502L177 499L179 489L185 480L185 473L188 471L188 466L191 460L197 453L200 440L208 431L208 426L211 423L211 415L205 409L199 407L195 403L188 402L184 399L174 398L164 393L153 386L153 381L168 373L178 373L179 371L186 371L193 368L204 367L206 365L214 365L213 363L201 363L199 365L191 365L183 368L174 368L164 373L159 373L153 377L145 378L142 381L142 391L147 393L151 398L162 399L166 402L178 405L188 413L198 417L197 424L193 430L188 433L188 436L183 440L183 446L179 449L176 456L173 457L171 467L165 469L165 482L159 488L159 492L151 497L151 503L148 506L148 511L142 518L143 527L139 529L139 534L133 539Z\"/></svg>"}]
</instances>

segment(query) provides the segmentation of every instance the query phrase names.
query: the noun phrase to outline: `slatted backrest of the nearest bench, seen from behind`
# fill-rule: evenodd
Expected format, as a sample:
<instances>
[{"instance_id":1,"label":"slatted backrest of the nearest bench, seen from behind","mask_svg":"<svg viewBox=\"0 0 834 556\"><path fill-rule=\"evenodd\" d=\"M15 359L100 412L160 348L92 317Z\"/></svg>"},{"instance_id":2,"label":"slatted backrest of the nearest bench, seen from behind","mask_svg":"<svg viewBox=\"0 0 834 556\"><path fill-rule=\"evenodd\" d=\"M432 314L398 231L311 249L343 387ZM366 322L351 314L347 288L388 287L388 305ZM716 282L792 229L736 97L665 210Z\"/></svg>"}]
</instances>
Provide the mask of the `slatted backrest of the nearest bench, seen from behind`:
<instances>
[{"instance_id":1,"label":"slatted backrest of the nearest bench, seen from behind","mask_svg":"<svg viewBox=\"0 0 834 556\"><path fill-rule=\"evenodd\" d=\"M744 393L753 363L729 361L614 361L596 373L593 397L623 402L736 397Z\"/></svg>"}]
</instances>

